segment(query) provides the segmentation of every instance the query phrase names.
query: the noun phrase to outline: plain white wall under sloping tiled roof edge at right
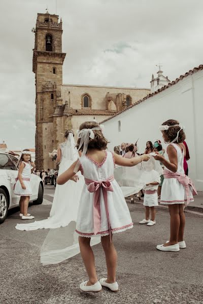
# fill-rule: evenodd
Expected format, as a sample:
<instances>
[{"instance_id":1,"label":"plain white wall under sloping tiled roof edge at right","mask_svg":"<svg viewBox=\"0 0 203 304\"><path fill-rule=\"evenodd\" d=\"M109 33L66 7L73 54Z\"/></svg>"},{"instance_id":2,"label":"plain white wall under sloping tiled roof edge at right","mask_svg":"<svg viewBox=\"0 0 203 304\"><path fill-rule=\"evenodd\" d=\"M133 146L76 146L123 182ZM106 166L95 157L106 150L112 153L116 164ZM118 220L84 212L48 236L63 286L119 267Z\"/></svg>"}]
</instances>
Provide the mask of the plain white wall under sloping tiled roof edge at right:
<instances>
[{"instance_id":1,"label":"plain white wall under sloping tiled roof edge at right","mask_svg":"<svg viewBox=\"0 0 203 304\"><path fill-rule=\"evenodd\" d=\"M121 142L135 142L138 137L139 152L146 142L162 139L159 125L168 119L176 119L186 127L186 142L190 152L189 175L198 191L203 191L203 128L202 100L203 71L200 70L176 85L148 98L104 123L109 149ZM121 131L118 132L118 121Z\"/></svg>"}]
</instances>

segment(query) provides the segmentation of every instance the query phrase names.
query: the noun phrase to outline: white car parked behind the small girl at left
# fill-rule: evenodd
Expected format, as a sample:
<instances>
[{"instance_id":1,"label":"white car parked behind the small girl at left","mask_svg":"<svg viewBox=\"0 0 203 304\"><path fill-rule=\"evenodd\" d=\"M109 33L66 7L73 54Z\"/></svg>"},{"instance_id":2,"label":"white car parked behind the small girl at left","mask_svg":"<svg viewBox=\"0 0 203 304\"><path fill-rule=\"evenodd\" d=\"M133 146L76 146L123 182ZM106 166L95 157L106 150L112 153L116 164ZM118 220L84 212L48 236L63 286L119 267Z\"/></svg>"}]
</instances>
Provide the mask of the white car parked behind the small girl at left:
<instances>
[{"instance_id":1,"label":"white car parked behind the small girl at left","mask_svg":"<svg viewBox=\"0 0 203 304\"><path fill-rule=\"evenodd\" d=\"M7 217L8 210L19 205L20 196L14 194L14 184L18 175L18 159L8 153L0 152L0 224ZM30 201L40 205L43 202L44 184L42 179L31 174L32 195Z\"/></svg>"}]
</instances>

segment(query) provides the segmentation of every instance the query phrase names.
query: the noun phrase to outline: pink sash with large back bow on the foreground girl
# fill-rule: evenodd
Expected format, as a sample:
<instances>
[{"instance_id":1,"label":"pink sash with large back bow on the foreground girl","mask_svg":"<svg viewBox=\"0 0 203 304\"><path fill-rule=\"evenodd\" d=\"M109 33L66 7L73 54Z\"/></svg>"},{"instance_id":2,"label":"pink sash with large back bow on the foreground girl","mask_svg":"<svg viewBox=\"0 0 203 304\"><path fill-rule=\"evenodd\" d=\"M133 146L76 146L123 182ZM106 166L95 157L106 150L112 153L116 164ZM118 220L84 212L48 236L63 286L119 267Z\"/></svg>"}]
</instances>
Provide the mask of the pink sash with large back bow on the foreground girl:
<instances>
[{"instance_id":1,"label":"pink sash with large back bow on the foreground girl","mask_svg":"<svg viewBox=\"0 0 203 304\"><path fill-rule=\"evenodd\" d=\"M102 189L104 201L105 201L105 209L107 214L107 220L109 224L110 231L110 240L111 240L111 225L109 220L109 210L108 210L108 201L107 201L107 192L113 192L113 187L111 181L114 180L114 176L110 176L105 180L93 180L85 178L85 183L87 185L87 189L90 193L94 193L94 203L93 203L93 222L94 222L94 235L100 232L101 229L101 211L100 211L100 189Z\"/></svg>"}]
</instances>

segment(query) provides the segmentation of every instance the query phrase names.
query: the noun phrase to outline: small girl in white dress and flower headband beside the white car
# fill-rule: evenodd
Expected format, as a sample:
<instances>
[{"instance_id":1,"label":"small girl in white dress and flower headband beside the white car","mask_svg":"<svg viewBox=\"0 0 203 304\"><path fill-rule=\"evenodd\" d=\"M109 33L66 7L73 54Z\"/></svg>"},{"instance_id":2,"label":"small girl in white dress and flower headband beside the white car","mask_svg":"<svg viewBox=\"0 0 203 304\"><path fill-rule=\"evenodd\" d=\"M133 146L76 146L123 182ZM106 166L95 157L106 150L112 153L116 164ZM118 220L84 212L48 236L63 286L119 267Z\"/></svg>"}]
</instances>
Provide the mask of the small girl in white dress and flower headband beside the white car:
<instances>
[{"instance_id":1,"label":"small girl in white dress and flower headband beside the white car","mask_svg":"<svg viewBox=\"0 0 203 304\"><path fill-rule=\"evenodd\" d=\"M23 150L19 160L19 170L14 194L20 196L20 217L22 219L35 218L27 213L29 197L32 194L30 186L31 173L35 170L35 163L31 161L31 152Z\"/></svg>"}]
</instances>

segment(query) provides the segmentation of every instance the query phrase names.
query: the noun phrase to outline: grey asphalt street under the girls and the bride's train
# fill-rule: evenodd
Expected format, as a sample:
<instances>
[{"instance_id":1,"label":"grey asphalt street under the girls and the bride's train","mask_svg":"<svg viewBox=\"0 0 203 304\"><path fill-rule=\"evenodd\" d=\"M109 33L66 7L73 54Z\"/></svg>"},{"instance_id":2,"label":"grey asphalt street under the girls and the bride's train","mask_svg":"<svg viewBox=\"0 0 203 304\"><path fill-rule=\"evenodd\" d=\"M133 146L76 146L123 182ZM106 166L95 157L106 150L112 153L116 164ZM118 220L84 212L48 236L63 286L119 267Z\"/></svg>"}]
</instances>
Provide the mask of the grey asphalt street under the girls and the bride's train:
<instances>
[{"instance_id":1,"label":"grey asphalt street under the girls and the bride's train","mask_svg":"<svg viewBox=\"0 0 203 304\"><path fill-rule=\"evenodd\" d=\"M54 187L46 186L42 205L30 205L35 220L47 218ZM156 225L138 222L144 218L141 204L129 204L134 227L113 236L118 252L117 281L119 292L106 288L98 293L83 293L79 284L87 279L80 254L60 264L42 266L40 247L48 230L18 231L19 208L11 210L0 225L1 304L130 304L203 302L202 213L186 213L187 248L179 252L160 252L169 236L167 209L157 207ZM24 222L23 222L24 223ZM93 247L98 278L106 277L101 245Z\"/></svg>"}]
</instances>

